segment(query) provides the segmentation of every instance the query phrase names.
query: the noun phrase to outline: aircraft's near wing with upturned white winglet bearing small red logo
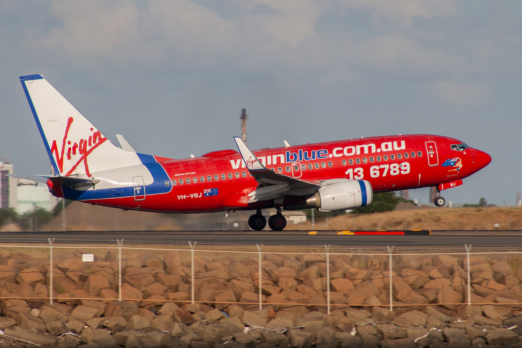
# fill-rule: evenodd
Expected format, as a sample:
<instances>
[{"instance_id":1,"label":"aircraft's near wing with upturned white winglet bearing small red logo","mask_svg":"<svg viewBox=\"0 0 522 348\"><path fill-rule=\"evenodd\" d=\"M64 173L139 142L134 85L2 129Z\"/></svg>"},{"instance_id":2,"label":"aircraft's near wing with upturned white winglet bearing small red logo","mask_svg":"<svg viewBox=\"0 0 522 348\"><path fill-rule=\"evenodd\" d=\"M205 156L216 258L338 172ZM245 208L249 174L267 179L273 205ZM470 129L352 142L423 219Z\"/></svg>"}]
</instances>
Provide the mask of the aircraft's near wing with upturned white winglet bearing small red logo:
<instances>
[{"instance_id":1,"label":"aircraft's near wing with upturned white winglet bearing small red logo","mask_svg":"<svg viewBox=\"0 0 522 348\"><path fill-rule=\"evenodd\" d=\"M311 195L321 187L317 182L272 172L257 159L240 137L234 137L234 140L248 171L259 184L258 189L251 194L251 202L276 198L283 193L291 196Z\"/></svg>"}]
</instances>

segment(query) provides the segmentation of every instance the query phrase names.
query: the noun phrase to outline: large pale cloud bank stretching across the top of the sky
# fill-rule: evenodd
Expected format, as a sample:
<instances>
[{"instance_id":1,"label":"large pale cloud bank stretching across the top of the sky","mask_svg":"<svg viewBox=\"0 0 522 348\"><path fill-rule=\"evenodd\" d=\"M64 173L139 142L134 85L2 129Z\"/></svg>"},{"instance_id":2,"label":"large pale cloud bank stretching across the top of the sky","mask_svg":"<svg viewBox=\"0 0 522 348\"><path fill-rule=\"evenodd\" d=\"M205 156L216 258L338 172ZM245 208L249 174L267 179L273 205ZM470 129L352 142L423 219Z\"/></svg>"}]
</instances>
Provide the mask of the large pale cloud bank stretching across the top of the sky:
<instances>
[{"instance_id":1,"label":"large pale cloud bank stretching across the top of the sky","mask_svg":"<svg viewBox=\"0 0 522 348\"><path fill-rule=\"evenodd\" d=\"M46 50L51 59L93 68L100 62L117 67L235 64L300 74L316 70L322 83L347 80L361 65L421 76L460 65L459 58L422 47L408 34L413 17L453 14L453 0L224 0L220 5L228 11L191 0L54 0L50 11L61 24L43 37L29 37L26 45ZM339 6L399 23L406 33L374 34L354 42L350 32L319 32L318 22Z\"/></svg>"}]
</instances>

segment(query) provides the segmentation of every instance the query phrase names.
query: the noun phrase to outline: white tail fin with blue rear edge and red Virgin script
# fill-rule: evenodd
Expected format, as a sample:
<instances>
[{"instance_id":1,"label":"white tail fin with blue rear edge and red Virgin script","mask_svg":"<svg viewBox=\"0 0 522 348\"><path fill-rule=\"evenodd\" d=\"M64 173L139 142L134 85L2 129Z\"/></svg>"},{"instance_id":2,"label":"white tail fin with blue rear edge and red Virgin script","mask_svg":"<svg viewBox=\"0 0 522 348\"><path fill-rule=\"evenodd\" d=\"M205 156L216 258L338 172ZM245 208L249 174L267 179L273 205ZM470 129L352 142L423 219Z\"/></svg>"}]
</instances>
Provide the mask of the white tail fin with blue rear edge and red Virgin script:
<instances>
[{"instance_id":1,"label":"white tail fin with blue rear edge and red Virgin script","mask_svg":"<svg viewBox=\"0 0 522 348\"><path fill-rule=\"evenodd\" d=\"M20 82L57 175L91 177L92 172L141 163L135 153L107 139L43 76L21 76Z\"/></svg>"}]
</instances>

